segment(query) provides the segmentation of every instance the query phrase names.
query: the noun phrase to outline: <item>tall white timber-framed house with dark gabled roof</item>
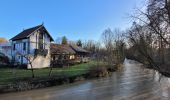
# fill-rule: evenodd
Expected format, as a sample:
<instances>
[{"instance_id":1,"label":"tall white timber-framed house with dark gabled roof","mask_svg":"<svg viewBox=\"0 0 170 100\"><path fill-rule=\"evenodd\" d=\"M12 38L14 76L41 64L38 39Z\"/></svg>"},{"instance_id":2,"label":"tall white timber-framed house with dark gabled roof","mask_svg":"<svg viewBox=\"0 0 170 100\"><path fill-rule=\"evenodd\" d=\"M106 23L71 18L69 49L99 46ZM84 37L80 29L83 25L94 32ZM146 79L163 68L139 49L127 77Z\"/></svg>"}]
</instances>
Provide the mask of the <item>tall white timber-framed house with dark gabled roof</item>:
<instances>
[{"instance_id":1,"label":"tall white timber-framed house with dark gabled roof","mask_svg":"<svg viewBox=\"0 0 170 100\"><path fill-rule=\"evenodd\" d=\"M11 39L12 58L16 63L25 64L28 69L50 67L50 43L53 38L44 25L38 25ZM31 62L31 64L30 64Z\"/></svg>"}]
</instances>

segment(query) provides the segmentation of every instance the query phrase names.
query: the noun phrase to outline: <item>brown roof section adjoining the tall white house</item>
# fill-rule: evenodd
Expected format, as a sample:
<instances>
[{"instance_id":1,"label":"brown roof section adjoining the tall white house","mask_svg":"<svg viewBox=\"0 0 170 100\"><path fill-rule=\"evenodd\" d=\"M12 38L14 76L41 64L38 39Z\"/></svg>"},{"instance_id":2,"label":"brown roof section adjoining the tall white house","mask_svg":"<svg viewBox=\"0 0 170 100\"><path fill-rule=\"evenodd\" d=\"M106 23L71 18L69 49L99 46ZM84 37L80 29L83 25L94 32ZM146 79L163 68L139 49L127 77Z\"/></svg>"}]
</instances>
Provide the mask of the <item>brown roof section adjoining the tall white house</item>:
<instances>
[{"instance_id":1,"label":"brown roof section adjoining the tall white house","mask_svg":"<svg viewBox=\"0 0 170 100\"><path fill-rule=\"evenodd\" d=\"M51 54L75 54L69 45L51 44Z\"/></svg>"}]
</instances>

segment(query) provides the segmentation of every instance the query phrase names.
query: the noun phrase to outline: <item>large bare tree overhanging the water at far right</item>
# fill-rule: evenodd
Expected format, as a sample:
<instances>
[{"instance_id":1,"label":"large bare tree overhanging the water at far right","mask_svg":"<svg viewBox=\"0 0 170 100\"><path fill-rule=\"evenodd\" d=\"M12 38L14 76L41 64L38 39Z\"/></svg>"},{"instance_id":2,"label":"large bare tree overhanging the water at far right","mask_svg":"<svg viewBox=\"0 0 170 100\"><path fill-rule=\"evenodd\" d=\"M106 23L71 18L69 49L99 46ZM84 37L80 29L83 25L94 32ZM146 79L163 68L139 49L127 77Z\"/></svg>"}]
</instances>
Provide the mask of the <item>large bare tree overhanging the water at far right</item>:
<instances>
[{"instance_id":1,"label":"large bare tree overhanging the water at far right","mask_svg":"<svg viewBox=\"0 0 170 100\"><path fill-rule=\"evenodd\" d=\"M140 55L156 70L162 71L162 66L169 62L170 1L147 1L145 11L137 9L137 15L132 15L132 18L134 18L138 24L133 25L133 29L130 29L128 33L133 47L138 47L137 50ZM146 30L143 30L143 28L147 28L147 32L145 32ZM134 30L136 32L135 35Z\"/></svg>"}]
</instances>

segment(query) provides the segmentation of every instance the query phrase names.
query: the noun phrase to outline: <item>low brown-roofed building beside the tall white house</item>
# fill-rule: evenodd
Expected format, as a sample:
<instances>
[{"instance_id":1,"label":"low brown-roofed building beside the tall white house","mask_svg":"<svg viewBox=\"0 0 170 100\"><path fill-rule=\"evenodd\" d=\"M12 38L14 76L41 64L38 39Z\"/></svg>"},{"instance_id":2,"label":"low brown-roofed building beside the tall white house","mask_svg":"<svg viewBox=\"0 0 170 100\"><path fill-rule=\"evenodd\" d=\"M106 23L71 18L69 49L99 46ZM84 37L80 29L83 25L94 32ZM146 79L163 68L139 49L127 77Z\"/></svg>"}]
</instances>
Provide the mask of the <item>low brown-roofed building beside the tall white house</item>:
<instances>
[{"instance_id":1,"label":"low brown-roofed building beside the tall white house","mask_svg":"<svg viewBox=\"0 0 170 100\"><path fill-rule=\"evenodd\" d=\"M76 45L51 44L52 66L85 63L89 61L89 52Z\"/></svg>"}]
</instances>

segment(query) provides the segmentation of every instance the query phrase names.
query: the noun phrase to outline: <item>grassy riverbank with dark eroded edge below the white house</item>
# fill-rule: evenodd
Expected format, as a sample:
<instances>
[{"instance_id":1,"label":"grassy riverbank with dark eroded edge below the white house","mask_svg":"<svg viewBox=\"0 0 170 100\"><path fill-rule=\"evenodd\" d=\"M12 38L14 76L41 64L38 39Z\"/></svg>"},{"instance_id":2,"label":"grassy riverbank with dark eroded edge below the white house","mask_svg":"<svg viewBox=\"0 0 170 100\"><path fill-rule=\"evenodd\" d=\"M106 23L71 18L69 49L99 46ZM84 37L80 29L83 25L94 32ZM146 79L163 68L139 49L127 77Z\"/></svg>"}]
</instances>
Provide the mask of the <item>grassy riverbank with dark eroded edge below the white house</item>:
<instances>
[{"instance_id":1,"label":"grassy riverbank with dark eroded edge below the white house","mask_svg":"<svg viewBox=\"0 0 170 100\"><path fill-rule=\"evenodd\" d=\"M0 93L26 91L106 77L114 70L104 63L89 62L66 68L53 68L51 76L48 76L49 71L50 69L34 70L35 78L31 78L30 70L0 69Z\"/></svg>"}]
</instances>

